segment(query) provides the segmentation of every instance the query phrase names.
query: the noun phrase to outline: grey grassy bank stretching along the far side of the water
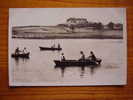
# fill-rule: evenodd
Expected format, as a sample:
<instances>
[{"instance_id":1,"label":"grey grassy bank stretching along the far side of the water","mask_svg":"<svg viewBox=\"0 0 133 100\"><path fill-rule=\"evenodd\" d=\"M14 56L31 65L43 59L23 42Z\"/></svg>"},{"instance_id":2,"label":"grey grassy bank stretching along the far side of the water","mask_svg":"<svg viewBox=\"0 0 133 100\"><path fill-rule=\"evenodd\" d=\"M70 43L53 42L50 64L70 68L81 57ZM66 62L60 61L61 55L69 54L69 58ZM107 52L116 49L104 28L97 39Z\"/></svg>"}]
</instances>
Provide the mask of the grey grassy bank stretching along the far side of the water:
<instances>
[{"instance_id":1,"label":"grey grassy bank stretching along the far side of the water","mask_svg":"<svg viewBox=\"0 0 133 100\"><path fill-rule=\"evenodd\" d=\"M123 31L119 30L93 30L89 28L75 28L72 32L67 27L36 26L14 27L12 38L24 39L64 39L64 38L92 38L92 39L122 39Z\"/></svg>"}]
</instances>

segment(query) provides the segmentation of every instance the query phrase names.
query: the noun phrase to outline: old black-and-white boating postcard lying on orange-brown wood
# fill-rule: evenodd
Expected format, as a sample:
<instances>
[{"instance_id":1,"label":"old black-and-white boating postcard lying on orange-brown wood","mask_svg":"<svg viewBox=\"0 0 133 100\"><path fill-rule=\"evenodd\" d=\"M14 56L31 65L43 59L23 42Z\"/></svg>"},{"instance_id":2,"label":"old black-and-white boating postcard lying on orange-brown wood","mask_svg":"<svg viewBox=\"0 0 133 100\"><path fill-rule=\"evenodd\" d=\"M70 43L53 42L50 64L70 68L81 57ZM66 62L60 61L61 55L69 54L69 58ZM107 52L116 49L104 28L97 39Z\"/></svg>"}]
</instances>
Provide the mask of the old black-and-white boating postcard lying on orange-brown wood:
<instances>
[{"instance_id":1,"label":"old black-and-white boating postcard lying on orange-brown wood","mask_svg":"<svg viewBox=\"0 0 133 100\"><path fill-rule=\"evenodd\" d=\"M127 84L125 8L10 8L9 86Z\"/></svg>"}]
</instances>

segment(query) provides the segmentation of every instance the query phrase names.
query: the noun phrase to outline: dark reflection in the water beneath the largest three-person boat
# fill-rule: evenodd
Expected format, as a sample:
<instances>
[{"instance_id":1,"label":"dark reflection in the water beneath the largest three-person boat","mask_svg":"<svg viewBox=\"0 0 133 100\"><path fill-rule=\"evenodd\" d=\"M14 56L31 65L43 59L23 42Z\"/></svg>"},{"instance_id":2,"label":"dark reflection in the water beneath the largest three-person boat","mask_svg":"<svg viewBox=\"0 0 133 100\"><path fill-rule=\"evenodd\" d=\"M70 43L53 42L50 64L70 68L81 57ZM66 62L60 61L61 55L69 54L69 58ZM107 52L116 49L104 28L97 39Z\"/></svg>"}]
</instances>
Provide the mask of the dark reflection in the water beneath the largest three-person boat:
<instances>
[{"instance_id":1,"label":"dark reflection in the water beneath the largest three-person boat","mask_svg":"<svg viewBox=\"0 0 133 100\"><path fill-rule=\"evenodd\" d=\"M89 65L89 66L55 66L55 69L61 70L61 76L64 77L67 68L80 68L80 77L83 78L86 73L86 69L90 69L90 74L93 75L95 71L100 68L101 65Z\"/></svg>"}]
</instances>

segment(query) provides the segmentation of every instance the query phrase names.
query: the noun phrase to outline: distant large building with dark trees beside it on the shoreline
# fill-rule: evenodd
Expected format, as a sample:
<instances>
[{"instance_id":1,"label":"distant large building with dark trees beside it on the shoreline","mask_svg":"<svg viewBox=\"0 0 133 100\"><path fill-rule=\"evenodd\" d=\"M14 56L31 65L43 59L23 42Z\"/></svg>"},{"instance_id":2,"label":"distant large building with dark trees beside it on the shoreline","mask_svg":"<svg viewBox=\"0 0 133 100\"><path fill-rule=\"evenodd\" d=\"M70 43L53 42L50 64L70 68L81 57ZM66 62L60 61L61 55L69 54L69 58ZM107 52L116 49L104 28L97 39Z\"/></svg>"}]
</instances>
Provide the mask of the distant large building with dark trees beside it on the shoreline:
<instances>
[{"instance_id":1,"label":"distant large building with dark trees beside it on the shoreline","mask_svg":"<svg viewBox=\"0 0 133 100\"><path fill-rule=\"evenodd\" d=\"M88 29L96 29L96 30L123 30L123 24L121 23L113 23L109 22L106 25L103 25L101 22L88 22L86 18L75 18L70 17L66 20L64 24L58 24L61 27L69 27L69 28L88 28Z\"/></svg>"}]
</instances>

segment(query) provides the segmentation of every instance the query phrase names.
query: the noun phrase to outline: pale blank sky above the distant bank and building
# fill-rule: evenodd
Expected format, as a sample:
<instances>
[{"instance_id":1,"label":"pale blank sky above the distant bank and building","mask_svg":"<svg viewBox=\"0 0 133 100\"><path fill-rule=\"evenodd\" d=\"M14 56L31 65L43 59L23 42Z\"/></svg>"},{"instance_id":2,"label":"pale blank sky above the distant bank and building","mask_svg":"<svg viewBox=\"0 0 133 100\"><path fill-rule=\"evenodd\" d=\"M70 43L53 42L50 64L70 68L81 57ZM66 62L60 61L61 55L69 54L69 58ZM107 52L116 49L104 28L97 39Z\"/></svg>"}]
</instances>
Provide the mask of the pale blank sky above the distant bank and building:
<instances>
[{"instance_id":1,"label":"pale blank sky above the distant bank and building","mask_svg":"<svg viewBox=\"0 0 133 100\"><path fill-rule=\"evenodd\" d=\"M88 22L124 23L124 8L10 8L12 26L57 25L70 17L86 18Z\"/></svg>"}]
</instances>

